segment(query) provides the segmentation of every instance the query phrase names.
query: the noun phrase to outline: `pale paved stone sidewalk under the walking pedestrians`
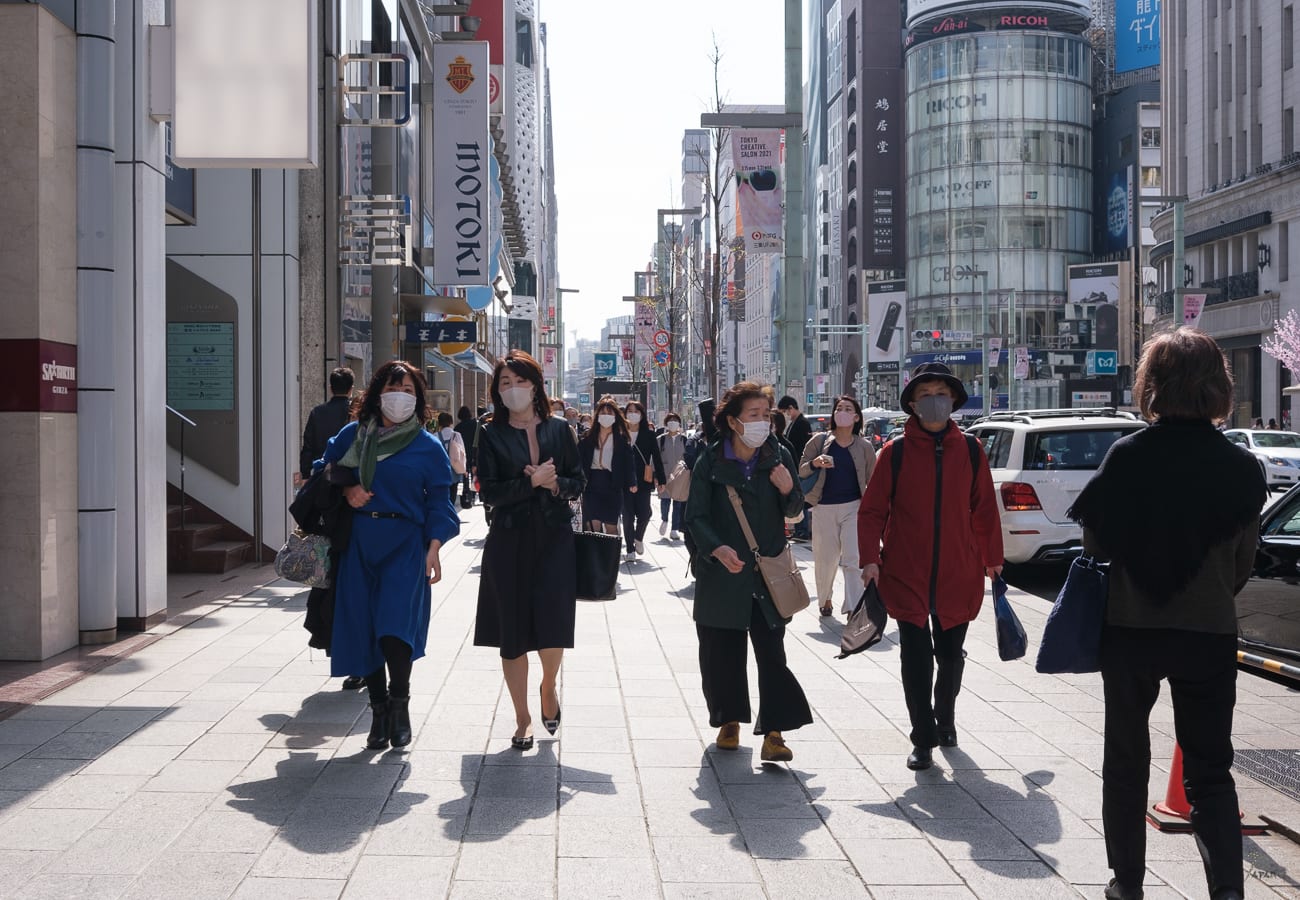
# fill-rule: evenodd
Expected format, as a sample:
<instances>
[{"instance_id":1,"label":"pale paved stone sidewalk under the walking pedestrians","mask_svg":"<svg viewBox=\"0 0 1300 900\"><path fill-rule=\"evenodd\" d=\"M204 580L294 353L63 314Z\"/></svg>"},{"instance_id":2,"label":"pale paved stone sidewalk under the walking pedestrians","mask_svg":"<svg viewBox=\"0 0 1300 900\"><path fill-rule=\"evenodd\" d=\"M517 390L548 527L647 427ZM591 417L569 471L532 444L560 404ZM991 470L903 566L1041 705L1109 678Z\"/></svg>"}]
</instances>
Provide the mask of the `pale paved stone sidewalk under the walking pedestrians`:
<instances>
[{"instance_id":1,"label":"pale paved stone sidewalk under the walking pedestrians","mask_svg":"<svg viewBox=\"0 0 1300 900\"><path fill-rule=\"evenodd\" d=\"M272 585L0 722L0 895L1101 896L1100 680L1000 662L991 611L971 627L961 748L919 774L896 633L835 661L838 626L800 615L786 645L816 724L788 735L793 763L763 767L749 735L711 749L685 555L651 537L616 601L580 603L564 724L519 754L497 655L472 646L485 529L464 518L410 752L364 749L364 695L307 650L304 594ZM1013 601L1032 641L1046 603ZM1239 745L1300 747L1300 696L1239 685ZM1153 799L1164 701L1154 727ZM1239 780L1245 809L1300 823ZM1296 845L1247 852L1249 896L1300 897ZM1191 838L1149 832L1148 857L1148 897L1205 895Z\"/></svg>"}]
</instances>

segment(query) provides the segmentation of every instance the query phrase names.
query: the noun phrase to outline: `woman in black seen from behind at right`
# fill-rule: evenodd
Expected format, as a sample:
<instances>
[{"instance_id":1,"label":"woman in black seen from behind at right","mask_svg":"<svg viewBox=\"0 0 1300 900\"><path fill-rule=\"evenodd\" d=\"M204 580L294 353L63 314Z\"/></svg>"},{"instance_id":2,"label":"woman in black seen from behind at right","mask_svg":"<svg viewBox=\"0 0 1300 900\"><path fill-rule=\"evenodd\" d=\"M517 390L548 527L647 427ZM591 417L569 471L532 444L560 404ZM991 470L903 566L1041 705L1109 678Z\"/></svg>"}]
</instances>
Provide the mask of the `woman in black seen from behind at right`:
<instances>
[{"instance_id":1,"label":"woman in black seen from behind at right","mask_svg":"<svg viewBox=\"0 0 1300 900\"><path fill-rule=\"evenodd\" d=\"M1232 376L1209 336L1147 342L1134 398L1150 427L1112 445L1070 507L1084 551L1110 561L1101 682L1106 736L1101 821L1114 878L1106 897L1143 896L1150 709L1169 682L1183 784L1209 896L1240 897L1242 831L1232 766L1236 607L1268 497L1258 463L1216 429Z\"/></svg>"}]
</instances>

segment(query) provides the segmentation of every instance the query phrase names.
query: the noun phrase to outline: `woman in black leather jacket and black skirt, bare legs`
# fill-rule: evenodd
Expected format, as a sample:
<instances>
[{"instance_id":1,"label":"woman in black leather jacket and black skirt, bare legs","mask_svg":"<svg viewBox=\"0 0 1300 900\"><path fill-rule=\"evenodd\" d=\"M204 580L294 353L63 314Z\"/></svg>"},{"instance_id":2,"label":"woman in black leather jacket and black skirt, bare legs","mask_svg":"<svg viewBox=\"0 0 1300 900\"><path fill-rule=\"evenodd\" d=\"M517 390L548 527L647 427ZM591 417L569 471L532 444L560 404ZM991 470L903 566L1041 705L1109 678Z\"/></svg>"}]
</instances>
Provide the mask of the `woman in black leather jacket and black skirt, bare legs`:
<instances>
[{"instance_id":1,"label":"woman in black leather jacket and black skirt, bare legs","mask_svg":"<svg viewBox=\"0 0 1300 900\"><path fill-rule=\"evenodd\" d=\"M511 747L533 747L528 711L528 653L542 662L541 713L546 731L560 724L559 676L573 646L577 572L573 512L586 477L577 437L551 415L542 368L523 350L497 363L491 421L478 437L478 489L493 510L478 579L474 646L500 649L500 667L515 705Z\"/></svg>"}]
</instances>

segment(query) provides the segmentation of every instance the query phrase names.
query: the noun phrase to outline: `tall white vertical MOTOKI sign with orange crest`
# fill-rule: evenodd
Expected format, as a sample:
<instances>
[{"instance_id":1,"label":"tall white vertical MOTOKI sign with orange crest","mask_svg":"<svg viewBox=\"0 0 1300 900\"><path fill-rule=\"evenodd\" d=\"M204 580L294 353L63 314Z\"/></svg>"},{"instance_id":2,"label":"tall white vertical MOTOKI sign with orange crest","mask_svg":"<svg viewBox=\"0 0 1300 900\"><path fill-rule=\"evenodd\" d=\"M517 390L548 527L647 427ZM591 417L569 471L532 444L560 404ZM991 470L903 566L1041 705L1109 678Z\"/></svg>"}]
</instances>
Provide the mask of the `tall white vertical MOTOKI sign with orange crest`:
<instances>
[{"instance_id":1,"label":"tall white vertical MOTOKI sign with orange crest","mask_svg":"<svg viewBox=\"0 0 1300 900\"><path fill-rule=\"evenodd\" d=\"M491 268L488 43L433 46L433 284L486 285Z\"/></svg>"}]
</instances>

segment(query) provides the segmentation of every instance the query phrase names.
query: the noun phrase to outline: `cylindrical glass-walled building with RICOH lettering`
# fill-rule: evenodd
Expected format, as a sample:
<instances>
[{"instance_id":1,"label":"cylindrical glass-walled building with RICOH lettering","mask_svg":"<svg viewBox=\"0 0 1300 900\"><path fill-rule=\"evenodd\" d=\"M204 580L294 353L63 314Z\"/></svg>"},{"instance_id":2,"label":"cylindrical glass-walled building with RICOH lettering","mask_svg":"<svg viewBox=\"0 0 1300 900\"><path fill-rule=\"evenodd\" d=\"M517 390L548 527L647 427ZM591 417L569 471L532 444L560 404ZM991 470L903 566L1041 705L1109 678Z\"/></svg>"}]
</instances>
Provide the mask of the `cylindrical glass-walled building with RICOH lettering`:
<instances>
[{"instance_id":1,"label":"cylindrical glass-walled building with RICOH lettering","mask_svg":"<svg viewBox=\"0 0 1300 900\"><path fill-rule=\"evenodd\" d=\"M1026 20L1036 27L1017 27ZM944 333L913 349L949 354L972 397L982 338L1052 346L1067 267L1088 259L1092 48L1074 33L1084 23L949 8L909 34L909 328Z\"/></svg>"}]
</instances>

